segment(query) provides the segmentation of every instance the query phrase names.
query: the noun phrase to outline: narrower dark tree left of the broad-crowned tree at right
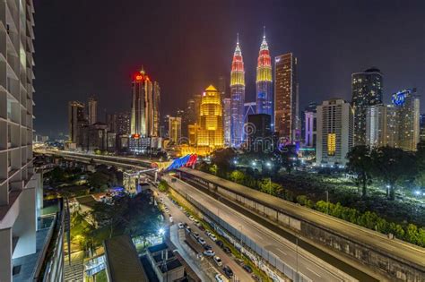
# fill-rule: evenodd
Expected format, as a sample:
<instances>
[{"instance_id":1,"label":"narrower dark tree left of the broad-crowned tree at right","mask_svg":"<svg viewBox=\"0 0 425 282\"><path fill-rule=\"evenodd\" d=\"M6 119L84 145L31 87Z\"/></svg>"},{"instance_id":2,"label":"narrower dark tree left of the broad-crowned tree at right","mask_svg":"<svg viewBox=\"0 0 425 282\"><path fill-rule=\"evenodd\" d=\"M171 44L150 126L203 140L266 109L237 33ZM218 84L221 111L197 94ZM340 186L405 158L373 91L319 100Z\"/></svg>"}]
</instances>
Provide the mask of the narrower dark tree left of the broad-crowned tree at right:
<instances>
[{"instance_id":1,"label":"narrower dark tree left of the broad-crowned tree at right","mask_svg":"<svg viewBox=\"0 0 425 282\"><path fill-rule=\"evenodd\" d=\"M353 147L347 154L349 172L356 175L356 183L361 186L361 196L367 194L368 184L371 183L372 158L368 146L360 145Z\"/></svg>"}]
</instances>

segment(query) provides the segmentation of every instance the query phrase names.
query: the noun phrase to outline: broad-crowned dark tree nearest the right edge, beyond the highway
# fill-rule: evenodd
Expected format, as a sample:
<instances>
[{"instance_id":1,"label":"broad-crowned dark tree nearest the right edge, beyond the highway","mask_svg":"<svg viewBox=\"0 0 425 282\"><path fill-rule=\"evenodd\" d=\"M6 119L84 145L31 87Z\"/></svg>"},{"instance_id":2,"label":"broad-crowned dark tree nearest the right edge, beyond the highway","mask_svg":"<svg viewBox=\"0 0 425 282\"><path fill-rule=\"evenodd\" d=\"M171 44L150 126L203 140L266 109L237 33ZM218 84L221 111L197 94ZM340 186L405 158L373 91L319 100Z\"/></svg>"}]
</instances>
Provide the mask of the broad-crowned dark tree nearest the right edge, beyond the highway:
<instances>
[{"instance_id":1,"label":"broad-crowned dark tree nearest the right edge, beyond the highway","mask_svg":"<svg viewBox=\"0 0 425 282\"><path fill-rule=\"evenodd\" d=\"M387 184L386 196L395 200L395 184L403 179L416 175L415 159L409 152L399 148L380 147L370 153L372 173Z\"/></svg>"}]
</instances>

